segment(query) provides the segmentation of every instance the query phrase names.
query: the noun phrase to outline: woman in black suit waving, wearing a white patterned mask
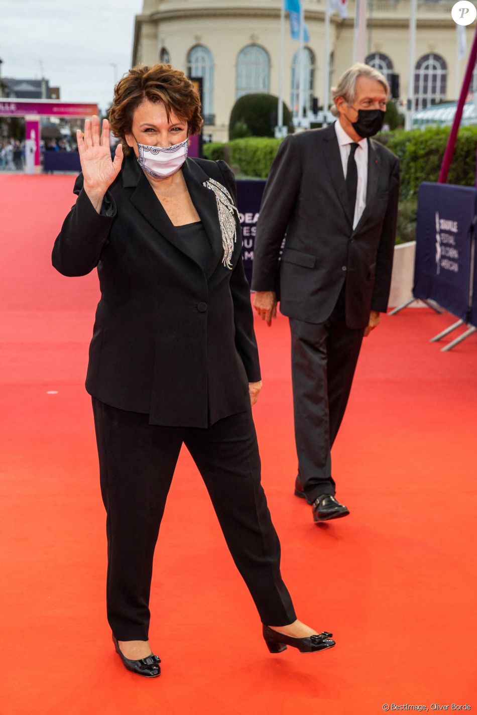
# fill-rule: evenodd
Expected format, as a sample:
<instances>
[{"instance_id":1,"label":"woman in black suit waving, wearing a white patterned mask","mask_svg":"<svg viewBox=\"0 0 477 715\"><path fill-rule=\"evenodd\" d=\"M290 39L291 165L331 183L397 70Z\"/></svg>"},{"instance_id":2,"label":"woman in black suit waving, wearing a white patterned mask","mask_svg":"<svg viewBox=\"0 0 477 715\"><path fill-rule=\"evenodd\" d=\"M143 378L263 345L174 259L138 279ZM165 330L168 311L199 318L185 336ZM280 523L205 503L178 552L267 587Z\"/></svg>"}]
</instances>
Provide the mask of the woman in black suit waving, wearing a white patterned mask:
<instances>
[{"instance_id":1,"label":"woman in black suit waving, wearing a white patterned mask","mask_svg":"<svg viewBox=\"0 0 477 715\"><path fill-rule=\"evenodd\" d=\"M53 249L64 275L97 267L89 350L102 498L107 614L124 666L159 675L148 642L152 558L182 443L205 480L272 653L334 646L297 621L260 485L251 405L262 383L242 267L235 182L225 162L187 159L200 100L170 65L137 66L106 119L77 133L77 203ZM123 152L125 159L123 162ZM234 197L234 198L232 198Z\"/></svg>"}]
</instances>

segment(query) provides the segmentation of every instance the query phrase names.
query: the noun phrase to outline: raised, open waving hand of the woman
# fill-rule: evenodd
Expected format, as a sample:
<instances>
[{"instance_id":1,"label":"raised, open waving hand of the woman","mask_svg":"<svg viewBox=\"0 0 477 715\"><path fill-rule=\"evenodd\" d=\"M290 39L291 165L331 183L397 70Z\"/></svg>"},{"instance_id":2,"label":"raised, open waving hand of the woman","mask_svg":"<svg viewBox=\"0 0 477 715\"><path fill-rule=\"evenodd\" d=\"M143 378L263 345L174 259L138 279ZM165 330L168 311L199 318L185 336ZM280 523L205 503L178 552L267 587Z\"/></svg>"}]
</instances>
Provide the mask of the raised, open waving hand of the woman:
<instances>
[{"instance_id":1,"label":"raised, open waving hand of the woman","mask_svg":"<svg viewBox=\"0 0 477 715\"><path fill-rule=\"evenodd\" d=\"M84 135L81 129L78 129L77 142L84 177L84 190L94 208L99 212L104 194L121 169L122 144L121 142L117 144L114 161L112 161L109 149L109 122L107 119L103 119L100 139L99 118L96 115L84 122Z\"/></svg>"}]
</instances>

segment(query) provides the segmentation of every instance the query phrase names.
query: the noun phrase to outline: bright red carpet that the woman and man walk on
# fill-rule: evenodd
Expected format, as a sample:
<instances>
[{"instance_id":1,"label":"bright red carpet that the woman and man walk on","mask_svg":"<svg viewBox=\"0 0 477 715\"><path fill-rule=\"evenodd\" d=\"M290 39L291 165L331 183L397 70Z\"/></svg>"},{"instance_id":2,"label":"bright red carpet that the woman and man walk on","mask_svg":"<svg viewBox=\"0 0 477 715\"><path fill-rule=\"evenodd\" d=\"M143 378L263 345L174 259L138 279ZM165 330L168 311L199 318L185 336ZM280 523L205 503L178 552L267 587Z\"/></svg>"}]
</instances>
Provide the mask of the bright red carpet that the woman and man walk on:
<instances>
[{"instance_id":1,"label":"bright red carpet that the woman and man walk on","mask_svg":"<svg viewBox=\"0 0 477 715\"><path fill-rule=\"evenodd\" d=\"M441 353L428 339L453 319L430 310L387 317L365 340L334 453L351 515L323 527L292 495L287 321L257 322L265 387L255 421L282 571L298 616L333 631L337 647L268 654L183 453L152 588L162 676L124 670L105 617L105 519L84 391L97 278L65 278L50 264L73 181L0 176L1 711L477 710L477 335Z\"/></svg>"}]
</instances>

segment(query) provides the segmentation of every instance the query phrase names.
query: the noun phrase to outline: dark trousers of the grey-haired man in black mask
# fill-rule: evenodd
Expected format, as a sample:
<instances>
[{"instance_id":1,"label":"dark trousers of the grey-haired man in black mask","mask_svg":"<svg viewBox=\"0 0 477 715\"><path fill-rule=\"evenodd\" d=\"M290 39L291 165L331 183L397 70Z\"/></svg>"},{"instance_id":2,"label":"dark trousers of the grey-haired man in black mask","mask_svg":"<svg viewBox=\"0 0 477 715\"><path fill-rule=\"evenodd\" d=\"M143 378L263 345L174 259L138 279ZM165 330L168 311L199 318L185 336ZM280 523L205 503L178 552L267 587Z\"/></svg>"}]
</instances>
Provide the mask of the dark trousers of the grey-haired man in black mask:
<instances>
[{"instance_id":1,"label":"dark trousers of the grey-haired man in black mask","mask_svg":"<svg viewBox=\"0 0 477 715\"><path fill-rule=\"evenodd\" d=\"M323 323L290 318L298 474L307 501L335 494L331 448L345 414L363 329L346 326L345 289Z\"/></svg>"}]
</instances>

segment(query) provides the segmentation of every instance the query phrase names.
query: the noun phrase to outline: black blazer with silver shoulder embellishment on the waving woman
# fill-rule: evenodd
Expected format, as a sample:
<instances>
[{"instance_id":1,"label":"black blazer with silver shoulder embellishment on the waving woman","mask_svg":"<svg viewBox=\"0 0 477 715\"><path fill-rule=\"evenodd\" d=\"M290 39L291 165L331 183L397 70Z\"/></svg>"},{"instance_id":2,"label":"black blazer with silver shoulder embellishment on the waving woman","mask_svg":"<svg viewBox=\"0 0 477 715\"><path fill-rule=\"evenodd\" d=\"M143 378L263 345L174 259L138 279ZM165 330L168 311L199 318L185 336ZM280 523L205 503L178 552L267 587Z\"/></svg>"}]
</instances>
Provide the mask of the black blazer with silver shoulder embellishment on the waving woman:
<instances>
[{"instance_id":1,"label":"black blazer with silver shoulder embellishment on the waving woman","mask_svg":"<svg viewBox=\"0 0 477 715\"><path fill-rule=\"evenodd\" d=\"M97 267L97 307L86 387L157 425L206 428L250 406L260 380L250 288L242 265L240 221L232 270L222 264L222 232L207 179L235 199L225 162L187 159L182 172L215 257L207 271L175 245L175 230L134 156L104 197L99 215L82 189L54 244L63 275Z\"/></svg>"}]
</instances>

